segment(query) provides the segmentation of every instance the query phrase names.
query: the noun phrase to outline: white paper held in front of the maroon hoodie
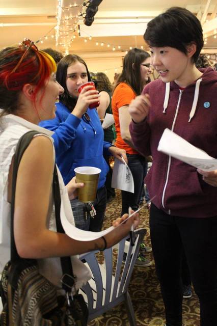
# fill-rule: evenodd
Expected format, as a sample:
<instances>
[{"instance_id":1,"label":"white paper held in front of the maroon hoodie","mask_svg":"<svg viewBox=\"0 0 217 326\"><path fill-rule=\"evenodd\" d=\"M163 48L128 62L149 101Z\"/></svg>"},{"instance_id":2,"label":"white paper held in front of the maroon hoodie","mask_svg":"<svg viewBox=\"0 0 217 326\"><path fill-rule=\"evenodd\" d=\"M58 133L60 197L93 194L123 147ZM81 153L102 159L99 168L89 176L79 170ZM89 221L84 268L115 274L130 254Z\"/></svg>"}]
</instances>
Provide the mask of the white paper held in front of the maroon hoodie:
<instances>
[{"instance_id":1,"label":"white paper held in front of the maroon hoodie","mask_svg":"<svg viewBox=\"0 0 217 326\"><path fill-rule=\"evenodd\" d=\"M168 128L164 130L157 150L204 171L217 169L216 158L188 143Z\"/></svg>"}]
</instances>

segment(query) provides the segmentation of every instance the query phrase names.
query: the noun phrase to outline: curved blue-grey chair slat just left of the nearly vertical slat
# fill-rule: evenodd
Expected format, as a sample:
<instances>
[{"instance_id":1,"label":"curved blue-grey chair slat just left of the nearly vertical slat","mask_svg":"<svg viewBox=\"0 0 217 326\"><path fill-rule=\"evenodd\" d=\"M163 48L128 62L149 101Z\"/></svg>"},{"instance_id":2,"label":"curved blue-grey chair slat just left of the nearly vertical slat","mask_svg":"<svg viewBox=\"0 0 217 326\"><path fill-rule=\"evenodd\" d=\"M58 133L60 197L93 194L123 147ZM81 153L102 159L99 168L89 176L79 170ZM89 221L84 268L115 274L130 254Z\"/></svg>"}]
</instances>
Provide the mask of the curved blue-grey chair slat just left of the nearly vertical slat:
<instances>
[{"instance_id":1,"label":"curved blue-grey chair slat just left of the nearly vertical slat","mask_svg":"<svg viewBox=\"0 0 217 326\"><path fill-rule=\"evenodd\" d=\"M99 307L102 306L102 288L103 288L102 275L101 275L99 263L95 255L86 256L85 259L93 274L95 289L93 288L92 289L93 291L95 290L96 292L96 309L98 309Z\"/></svg>"}]
</instances>

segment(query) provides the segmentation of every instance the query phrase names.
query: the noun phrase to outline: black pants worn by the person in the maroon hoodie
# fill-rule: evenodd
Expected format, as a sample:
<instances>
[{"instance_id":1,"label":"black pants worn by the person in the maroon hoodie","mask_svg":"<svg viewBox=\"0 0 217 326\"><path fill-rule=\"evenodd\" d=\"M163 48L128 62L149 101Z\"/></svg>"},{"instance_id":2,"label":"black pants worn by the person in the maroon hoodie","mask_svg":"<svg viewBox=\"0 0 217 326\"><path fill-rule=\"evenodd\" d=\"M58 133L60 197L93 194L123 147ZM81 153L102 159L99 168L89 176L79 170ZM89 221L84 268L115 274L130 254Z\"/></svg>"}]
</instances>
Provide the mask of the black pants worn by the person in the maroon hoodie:
<instances>
[{"instance_id":1,"label":"black pants worn by the person in the maroon hoodie","mask_svg":"<svg viewBox=\"0 0 217 326\"><path fill-rule=\"evenodd\" d=\"M182 218L168 215L151 204L150 235L167 326L182 325L183 248L200 301L201 326L214 326L217 311L217 216Z\"/></svg>"}]
</instances>

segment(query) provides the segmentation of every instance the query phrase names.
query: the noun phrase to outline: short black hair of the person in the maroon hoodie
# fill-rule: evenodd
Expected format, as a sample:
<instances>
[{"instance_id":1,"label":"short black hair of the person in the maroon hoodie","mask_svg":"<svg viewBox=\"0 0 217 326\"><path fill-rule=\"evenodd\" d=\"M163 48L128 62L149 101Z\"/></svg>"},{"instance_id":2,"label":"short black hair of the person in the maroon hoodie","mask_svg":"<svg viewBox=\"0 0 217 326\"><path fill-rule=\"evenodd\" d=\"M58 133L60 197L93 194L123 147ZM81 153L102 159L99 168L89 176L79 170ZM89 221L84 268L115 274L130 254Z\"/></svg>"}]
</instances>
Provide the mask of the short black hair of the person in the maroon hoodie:
<instances>
[{"instance_id":1,"label":"short black hair of the person in the maroon hoodie","mask_svg":"<svg viewBox=\"0 0 217 326\"><path fill-rule=\"evenodd\" d=\"M187 54L187 45L196 43L195 63L203 47L203 30L198 18L189 10L172 7L149 21L144 34L150 46L170 46Z\"/></svg>"}]
</instances>

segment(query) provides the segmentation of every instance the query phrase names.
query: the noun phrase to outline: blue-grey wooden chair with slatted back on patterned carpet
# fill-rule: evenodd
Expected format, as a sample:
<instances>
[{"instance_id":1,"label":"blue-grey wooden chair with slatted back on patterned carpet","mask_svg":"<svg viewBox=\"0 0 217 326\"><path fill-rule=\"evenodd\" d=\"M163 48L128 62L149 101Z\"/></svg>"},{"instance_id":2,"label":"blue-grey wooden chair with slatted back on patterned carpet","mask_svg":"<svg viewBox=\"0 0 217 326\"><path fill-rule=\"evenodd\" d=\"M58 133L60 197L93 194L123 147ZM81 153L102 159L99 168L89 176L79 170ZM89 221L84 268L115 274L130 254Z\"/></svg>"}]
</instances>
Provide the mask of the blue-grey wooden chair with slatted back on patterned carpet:
<instances>
[{"instance_id":1,"label":"blue-grey wooden chair with slatted back on patterned carpet","mask_svg":"<svg viewBox=\"0 0 217 326\"><path fill-rule=\"evenodd\" d=\"M125 237L115 247L103 251L103 264L99 263L100 258L96 256L99 251L80 256L80 259L86 260L86 264L92 273L91 280L80 289L80 293L84 295L88 304L89 321L124 301L130 326L136 326L128 285L140 243L146 234L146 230L138 229L134 233L134 246L126 241L129 237ZM124 252L126 252L125 261L123 260ZM117 262L114 262L116 254Z\"/></svg>"}]
</instances>

